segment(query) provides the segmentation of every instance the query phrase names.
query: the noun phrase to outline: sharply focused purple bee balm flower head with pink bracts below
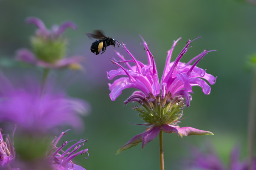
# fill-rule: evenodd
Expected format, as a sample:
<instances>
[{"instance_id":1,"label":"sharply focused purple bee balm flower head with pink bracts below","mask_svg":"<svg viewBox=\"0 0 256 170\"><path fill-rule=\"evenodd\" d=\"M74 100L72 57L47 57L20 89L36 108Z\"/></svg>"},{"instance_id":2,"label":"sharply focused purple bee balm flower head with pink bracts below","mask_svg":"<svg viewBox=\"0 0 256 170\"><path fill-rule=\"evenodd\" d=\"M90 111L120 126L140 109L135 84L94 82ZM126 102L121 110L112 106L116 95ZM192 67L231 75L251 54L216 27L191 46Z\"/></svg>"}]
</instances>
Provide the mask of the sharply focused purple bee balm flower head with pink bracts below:
<instances>
[{"instance_id":1,"label":"sharply focused purple bee balm flower head with pink bracts below","mask_svg":"<svg viewBox=\"0 0 256 170\"><path fill-rule=\"evenodd\" d=\"M142 38L143 39L143 38ZM178 39L180 40L180 38ZM159 83L156 64L154 57L148 49L147 43L143 40L143 45L147 53L148 64L135 59L131 52L123 44L123 47L131 56L131 60L125 60L118 52L116 54L121 58L121 61L112 62L120 68L111 70L108 73L108 79L113 79L116 76L122 76L116 79L109 85L111 91L110 98L112 101L122 93L126 88L136 88L139 91L134 93L125 100L124 104L128 102L138 102L142 107L134 106L133 109L139 112L139 116L149 126L147 130L134 136L128 143L119 148L117 153L126 150L142 142L142 148L148 142L152 141L163 130L166 133L177 133L180 136L189 135L213 135L213 133L204 130L198 130L193 127L179 127L183 116L184 106L189 107L192 86L200 86L204 94L210 94L211 88L207 84L213 85L216 77L207 74L206 70L196 67L198 62L209 52L204 50L201 54L194 57L187 63L180 62L181 57L186 53L192 42L186 42L186 46L182 49L174 62L170 62L172 51L177 45L174 41L172 48L167 52L166 65L163 71L162 79ZM192 62L194 62L192 64ZM128 68L124 68L121 63L125 63ZM130 65L134 63L134 65Z\"/></svg>"}]
</instances>

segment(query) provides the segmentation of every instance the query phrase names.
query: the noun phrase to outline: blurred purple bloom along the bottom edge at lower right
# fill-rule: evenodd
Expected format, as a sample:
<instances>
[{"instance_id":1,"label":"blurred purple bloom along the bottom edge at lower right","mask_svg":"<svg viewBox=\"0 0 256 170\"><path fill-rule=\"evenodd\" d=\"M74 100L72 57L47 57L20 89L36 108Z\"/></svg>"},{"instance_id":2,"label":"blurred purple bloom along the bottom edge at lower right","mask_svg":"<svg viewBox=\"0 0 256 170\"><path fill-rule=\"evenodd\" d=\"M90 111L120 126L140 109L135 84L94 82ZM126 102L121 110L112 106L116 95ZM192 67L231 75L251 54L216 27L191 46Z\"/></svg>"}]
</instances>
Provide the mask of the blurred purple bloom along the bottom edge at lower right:
<instances>
[{"instance_id":1,"label":"blurred purple bloom along the bottom edge at lower right","mask_svg":"<svg viewBox=\"0 0 256 170\"><path fill-rule=\"evenodd\" d=\"M207 150L203 153L197 148L193 148L192 157L186 160L188 170L249 170L248 161L240 161L240 149L234 147L230 154L230 163L226 166L219 156L213 150ZM256 159L254 159L254 168L256 170Z\"/></svg>"}]
</instances>

